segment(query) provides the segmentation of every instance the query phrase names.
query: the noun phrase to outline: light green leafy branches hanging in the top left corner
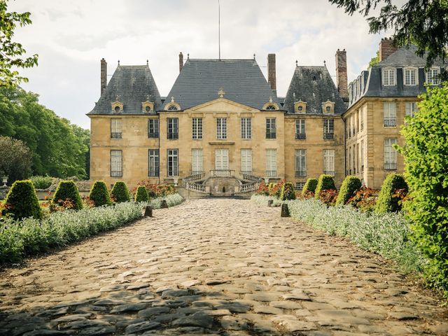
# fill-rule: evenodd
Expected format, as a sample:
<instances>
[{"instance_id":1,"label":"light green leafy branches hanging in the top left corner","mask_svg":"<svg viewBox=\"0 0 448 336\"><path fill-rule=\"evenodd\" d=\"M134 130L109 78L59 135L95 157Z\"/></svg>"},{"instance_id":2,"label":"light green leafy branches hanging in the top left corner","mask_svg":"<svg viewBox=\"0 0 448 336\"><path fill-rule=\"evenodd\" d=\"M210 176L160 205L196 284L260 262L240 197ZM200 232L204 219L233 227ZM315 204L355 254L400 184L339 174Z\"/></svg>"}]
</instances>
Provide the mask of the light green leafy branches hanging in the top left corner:
<instances>
[{"instance_id":1,"label":"light green leafy branches hanging in the top left corner","mask_svg":"<svg viewBox=\"0 0 448 336\"><path fill-rule=\"evenodd\" d=\"M28 78L20 76L16 68L31 68L37 65L38 55L21 58L26 50L22 44L14 42L14 29L30 25L31 13L8 12L7 0L0 0L0 87L16 86L27 82Z\"/></svg>"}]
</instances>

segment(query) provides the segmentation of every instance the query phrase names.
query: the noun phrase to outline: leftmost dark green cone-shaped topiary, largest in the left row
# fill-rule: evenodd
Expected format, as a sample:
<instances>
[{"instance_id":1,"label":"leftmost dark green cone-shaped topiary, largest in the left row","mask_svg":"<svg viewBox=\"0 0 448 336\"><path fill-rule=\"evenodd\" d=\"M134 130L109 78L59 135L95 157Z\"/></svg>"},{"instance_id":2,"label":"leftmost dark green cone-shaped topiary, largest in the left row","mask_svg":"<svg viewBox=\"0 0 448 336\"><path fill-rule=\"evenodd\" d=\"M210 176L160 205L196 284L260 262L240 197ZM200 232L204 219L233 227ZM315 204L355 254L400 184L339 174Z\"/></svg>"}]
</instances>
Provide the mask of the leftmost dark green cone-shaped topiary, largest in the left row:
<instances>
[{"instance_id":1,"label":"leftmost dark green cone-shaped topiary, largest in the left row","mask_svg":"<svg viewBox=\"0 0 448 336\"><path fill-rule=\"evenodd\" d=\"M14 219L25 217L42 218L42 209L31 180L15 181L6 195L2 216Z\"/></svg>"}]
</instances>

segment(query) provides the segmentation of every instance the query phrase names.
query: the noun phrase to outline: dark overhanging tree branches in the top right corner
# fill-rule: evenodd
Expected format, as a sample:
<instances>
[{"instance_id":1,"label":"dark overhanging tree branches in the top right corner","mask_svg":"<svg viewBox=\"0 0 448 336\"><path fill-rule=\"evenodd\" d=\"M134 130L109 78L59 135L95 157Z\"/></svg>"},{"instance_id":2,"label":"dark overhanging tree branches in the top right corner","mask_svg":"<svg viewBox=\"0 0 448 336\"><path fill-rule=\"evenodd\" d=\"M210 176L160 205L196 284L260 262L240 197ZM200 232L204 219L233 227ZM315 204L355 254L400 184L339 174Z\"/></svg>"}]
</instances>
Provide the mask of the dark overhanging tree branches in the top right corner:
<instances>
[{"instance_id":1,"label":"dark overhanging tree branches in the top right corner","mask_svg":"<svg viewBox=\"0 0 448 336\"><path fill-rule=\"evenodd\" d=\"M412 43L416 45L416 54L426 53L426 66L431 66L437 57L448 56L448 1L447 0L408 0L401 8L392 4L392 0L329 0L330 3L344 8L345 13L355 12L367 17L371 10L380 8L377 17L367 18L371 34L386 29L395 29L393 39L398 46ZM381 5L380 5L381 3Z\"/></svg>"}]
</instances>

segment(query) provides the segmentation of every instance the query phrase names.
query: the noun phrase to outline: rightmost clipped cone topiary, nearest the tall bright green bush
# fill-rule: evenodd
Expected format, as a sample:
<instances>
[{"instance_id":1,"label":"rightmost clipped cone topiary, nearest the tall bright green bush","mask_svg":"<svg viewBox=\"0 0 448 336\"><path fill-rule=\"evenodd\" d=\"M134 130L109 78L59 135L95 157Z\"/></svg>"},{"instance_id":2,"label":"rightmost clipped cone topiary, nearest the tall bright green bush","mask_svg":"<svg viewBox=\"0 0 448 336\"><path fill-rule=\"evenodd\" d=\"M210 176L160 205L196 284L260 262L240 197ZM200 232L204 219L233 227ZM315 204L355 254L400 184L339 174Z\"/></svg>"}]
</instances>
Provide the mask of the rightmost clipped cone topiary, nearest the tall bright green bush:
<instances>
[{"instance_id":1,"label":"rightmost clipped cone topiary, nearest the tall bright green bush","mask_svg":"<svg viewBox=\"0 0 448 336\"><path fill-rule=\"evenodd\" d=\"M395 190L405 189L407 192L407 183L405 178L400 174L388 174L381 186L378 195L377 206L375 212L384 214L386 212L397 212L401 210L400 198L392 197Z\"/></svg>"}]
</instances>

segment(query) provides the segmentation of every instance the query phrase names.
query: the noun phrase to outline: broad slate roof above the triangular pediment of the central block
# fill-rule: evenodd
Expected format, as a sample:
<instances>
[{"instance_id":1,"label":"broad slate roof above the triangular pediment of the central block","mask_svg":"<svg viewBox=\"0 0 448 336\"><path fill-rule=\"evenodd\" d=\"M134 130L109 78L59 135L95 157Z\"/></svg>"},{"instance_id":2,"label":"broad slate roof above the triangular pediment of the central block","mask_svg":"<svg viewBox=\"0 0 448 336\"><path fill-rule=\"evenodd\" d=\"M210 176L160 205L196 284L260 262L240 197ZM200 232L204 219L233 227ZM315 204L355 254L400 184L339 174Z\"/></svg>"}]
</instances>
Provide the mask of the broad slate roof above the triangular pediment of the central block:
<instances>
[{"instance_id":1,"label":"broad slate roof above the triangular pediment of the central block","mask_svg":"<svg viewBox=\"0 0 448 336\"><path fill-rule=\"evenodd\" d=\"M221 87L224 98L255 109L269 97L279 104L255 59L187 59L165 102L174 97L185 110L217 99Z\"/></svg>"}]
</instances>

